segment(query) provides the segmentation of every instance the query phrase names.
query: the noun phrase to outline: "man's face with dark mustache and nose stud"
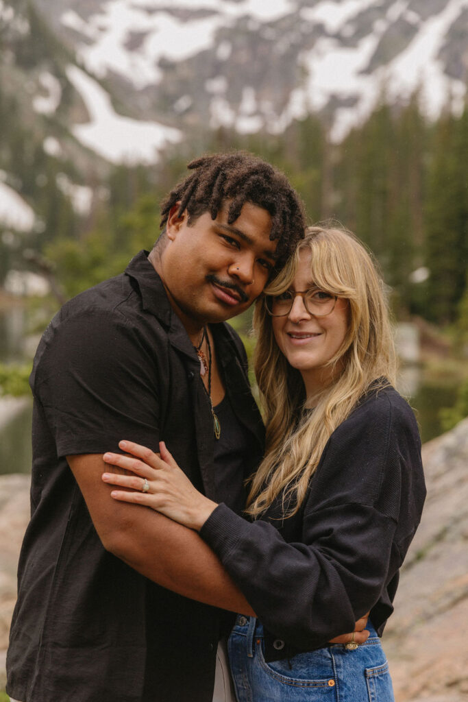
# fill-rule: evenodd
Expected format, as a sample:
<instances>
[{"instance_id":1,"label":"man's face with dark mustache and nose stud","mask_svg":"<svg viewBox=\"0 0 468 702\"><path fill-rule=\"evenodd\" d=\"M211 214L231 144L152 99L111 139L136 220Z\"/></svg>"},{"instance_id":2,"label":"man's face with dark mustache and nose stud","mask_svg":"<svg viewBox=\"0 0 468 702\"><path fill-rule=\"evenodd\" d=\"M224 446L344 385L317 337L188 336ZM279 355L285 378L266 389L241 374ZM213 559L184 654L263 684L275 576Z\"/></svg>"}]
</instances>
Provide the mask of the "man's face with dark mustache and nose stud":
<instances>
[{"instance_id":1,"label":"man's face with dark mustache and nose stud","mask_svg":"<svg viewBox=\"0 0 468 702\"><path fill-rule=\"evenodd\" d=\"M205 212L189 226L185 211L171 210L168 243L160 273L182 322L223 322L249 307L267 284L275 264L276 241L270 241L272 218L245 203L232 225L224 205L215 220Z\"/></svg>"}]
</instances>

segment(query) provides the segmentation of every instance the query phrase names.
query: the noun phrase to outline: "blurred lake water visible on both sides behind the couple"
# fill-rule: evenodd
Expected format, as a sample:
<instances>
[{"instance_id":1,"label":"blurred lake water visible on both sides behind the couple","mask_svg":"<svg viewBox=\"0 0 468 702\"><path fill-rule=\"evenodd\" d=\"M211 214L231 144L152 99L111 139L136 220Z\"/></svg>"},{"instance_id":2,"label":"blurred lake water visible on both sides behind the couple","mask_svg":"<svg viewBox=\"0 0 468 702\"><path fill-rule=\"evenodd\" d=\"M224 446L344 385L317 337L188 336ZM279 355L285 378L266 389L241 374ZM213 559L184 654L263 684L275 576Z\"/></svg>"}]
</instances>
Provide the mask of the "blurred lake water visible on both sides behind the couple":
<instances>
[{"instance_id":1,"label":"blurred lake water visible on both sides behind the couple","mask_svg":"<svg viewBox=\"0 0 468 702\"><path fill-rule=\"evenodd\" d=\"M37 339L27 338L26 329L27 313L22 307L0 310L0 362L25 362L31 357ZM453 406L457 394L455 380L433 383L424 379L417 366L408 367L399 390L409 397L415 410L422 442L439 436L442 432L439 409ZM0 475L31 470L31 419L32 401L12 412L11 419L0 421Z\"/></svg>"}]
</instances>

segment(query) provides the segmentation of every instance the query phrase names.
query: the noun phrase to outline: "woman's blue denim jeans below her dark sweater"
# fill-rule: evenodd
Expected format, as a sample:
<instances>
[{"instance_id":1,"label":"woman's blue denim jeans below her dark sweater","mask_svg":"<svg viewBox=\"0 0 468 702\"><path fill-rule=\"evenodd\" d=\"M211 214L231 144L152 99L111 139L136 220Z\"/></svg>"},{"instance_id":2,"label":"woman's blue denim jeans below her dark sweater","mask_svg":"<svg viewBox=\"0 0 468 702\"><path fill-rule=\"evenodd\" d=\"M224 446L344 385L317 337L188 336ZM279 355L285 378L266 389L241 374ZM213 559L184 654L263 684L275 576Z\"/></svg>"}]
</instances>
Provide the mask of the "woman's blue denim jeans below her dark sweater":
<instances>
[{"instance_id":1,"label":"woman's blue denim jeans below her dark sweater","mask_svg":"<svg viewBox=\"0 0 468 702\"><path fill-rule=\"evenodd\" d=\"M266 663L263 627L238 616L228 641L239 702L394 702L392 679L380 639L370 636L355 651L343 644Z\"/></svg>"}]
</instances>

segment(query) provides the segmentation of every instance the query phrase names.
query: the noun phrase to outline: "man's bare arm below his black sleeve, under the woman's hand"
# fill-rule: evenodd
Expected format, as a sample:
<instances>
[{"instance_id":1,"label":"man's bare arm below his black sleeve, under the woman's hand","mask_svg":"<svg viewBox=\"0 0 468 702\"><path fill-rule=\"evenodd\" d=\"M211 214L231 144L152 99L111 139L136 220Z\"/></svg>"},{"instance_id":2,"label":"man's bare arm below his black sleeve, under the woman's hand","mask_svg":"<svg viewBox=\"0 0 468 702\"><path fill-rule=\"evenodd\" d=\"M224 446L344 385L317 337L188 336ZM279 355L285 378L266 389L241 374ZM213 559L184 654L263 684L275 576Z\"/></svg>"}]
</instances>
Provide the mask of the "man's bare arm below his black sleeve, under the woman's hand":
<instances>
[{"instance_id":1,"label":"man's bare arm below his black sleeve, under the woman's hand","mask_svg":"<svg viewBox=\"0 0 468 702\"><path fill-rule=\"evenodd\" d=\"M192 529L140 505L112 499L102 456L68 456L104 548L163 587L241 614L253 610L218 557Z\"/></svg>"}]
</instances>

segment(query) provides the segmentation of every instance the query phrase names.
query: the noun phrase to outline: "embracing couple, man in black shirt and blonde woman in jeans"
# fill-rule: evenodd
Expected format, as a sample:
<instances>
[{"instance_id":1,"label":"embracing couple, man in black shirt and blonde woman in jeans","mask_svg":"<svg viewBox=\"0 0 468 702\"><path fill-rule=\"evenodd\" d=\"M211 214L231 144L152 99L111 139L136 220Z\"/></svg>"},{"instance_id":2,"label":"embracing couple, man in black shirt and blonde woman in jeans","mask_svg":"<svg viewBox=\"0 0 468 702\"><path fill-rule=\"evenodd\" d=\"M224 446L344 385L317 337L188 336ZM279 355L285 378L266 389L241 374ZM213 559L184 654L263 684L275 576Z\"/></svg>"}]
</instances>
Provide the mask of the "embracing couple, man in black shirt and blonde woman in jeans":
<instances>
[{"instance_id":1,"label":"embracing couple, man in black shirt and blonde woman in jeans","mask_svg":"<svg viewBox=\"0 0 468 702\"><path fill-rule=\"evenodd\" d=\"M380 635L425 489L382 281L265 161L189 168L152 251L36 352L7 692L390 702ZM263 420L225 324L254 301Z\"/></svg>"}]
</instances>

